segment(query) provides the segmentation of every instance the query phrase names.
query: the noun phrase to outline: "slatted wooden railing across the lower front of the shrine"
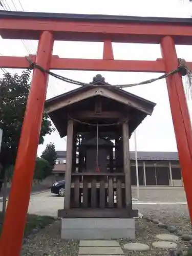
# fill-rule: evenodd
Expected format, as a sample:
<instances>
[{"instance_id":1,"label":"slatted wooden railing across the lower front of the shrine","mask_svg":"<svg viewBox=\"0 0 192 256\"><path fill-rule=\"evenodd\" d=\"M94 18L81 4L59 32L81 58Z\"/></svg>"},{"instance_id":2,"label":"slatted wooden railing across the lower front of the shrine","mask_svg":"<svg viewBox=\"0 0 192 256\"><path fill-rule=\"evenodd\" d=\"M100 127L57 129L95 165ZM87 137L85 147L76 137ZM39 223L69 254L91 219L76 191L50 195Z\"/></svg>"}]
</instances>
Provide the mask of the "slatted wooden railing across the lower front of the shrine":
<instances>
[{"instance_id":1,"label":"slatted wooden railing across the lower front of the shrine","mask_svg":"<svg viewBox=\"0 0 192 256\"><path fill-rule=\"evenodd\" d=\"M72 208L124 208L123 173L72 173Z\"/></svg>"}]
</instances>

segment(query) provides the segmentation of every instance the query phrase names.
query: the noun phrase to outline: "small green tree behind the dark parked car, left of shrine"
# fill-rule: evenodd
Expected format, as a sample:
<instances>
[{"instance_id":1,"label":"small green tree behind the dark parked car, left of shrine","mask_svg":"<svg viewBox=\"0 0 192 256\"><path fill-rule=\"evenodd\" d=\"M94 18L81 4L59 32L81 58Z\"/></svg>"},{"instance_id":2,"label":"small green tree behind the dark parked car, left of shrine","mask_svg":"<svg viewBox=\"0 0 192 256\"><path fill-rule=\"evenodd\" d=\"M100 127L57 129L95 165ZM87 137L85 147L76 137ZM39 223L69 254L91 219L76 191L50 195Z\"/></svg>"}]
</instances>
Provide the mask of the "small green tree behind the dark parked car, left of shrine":
<instances>
[{"instance_id":1,"label":"small green tree behind the dark parked car, left of shrine","mask_svg":"<svg viewBox=\"0 0 192 256\"><path fill-rule=\"evenodd\" d=\"M49 143L46 146L46 149L44 150L44 152L42 152L41 158L48 161L50 168L51 168L50 169L50 174L51 174L52 170L55 166L55 161L57 159L57 153L55 150L55 145L53 143Z\"/></svg>"}]
</instances>

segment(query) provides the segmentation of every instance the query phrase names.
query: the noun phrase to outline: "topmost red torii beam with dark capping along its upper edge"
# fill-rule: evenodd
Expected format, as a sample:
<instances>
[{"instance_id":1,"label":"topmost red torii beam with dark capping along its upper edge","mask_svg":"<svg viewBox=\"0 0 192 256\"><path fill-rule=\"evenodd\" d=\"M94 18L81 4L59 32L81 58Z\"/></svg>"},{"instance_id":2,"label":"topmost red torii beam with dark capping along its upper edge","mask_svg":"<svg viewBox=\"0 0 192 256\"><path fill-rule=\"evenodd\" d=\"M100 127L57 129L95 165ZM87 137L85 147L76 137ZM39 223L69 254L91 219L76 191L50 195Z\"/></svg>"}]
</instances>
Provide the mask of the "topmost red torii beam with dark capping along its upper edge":
<instances>
[{"instance_id":1,"label":"topmost red torii beam with dark capping along its upper edge","mask_svg":"<svg viewBox=\"0 0 192 256\"><path fill-rule=\"evenodd\" d=\"M177 45L192 45L192 19L0 11L0 34L38 40L51 31L55 40L159 44L169 35Z\"/></svg>"}]
</instances>

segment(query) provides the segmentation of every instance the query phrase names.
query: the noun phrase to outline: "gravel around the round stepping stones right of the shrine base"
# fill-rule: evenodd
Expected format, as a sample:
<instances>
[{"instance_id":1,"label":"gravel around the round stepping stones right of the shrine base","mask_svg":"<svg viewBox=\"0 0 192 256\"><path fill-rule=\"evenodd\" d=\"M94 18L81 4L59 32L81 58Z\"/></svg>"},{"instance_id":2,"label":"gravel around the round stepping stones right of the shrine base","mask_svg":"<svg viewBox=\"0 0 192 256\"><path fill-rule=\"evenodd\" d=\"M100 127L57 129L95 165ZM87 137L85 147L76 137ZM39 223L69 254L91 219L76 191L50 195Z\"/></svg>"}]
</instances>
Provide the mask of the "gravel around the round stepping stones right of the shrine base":
<instances>
[{"instance_id":1,"label":"gravel around the round stepping stones right of the shrine base","mask_svg":"<svg viewBox=\"0 0 192 256\"><path fill-rule=\"evenodd\" d=\"M144 219L136 220L136 238L135 239L120 239L120 245L123 248L123 245L129 242L133 243L143 243L150 246L150 250L148 251L129 251L124 250L125 255L129 256L158 256L158 255L169 255L170 249L158 249L152 246L153 242L158 241L155 236L161 233L169 233L166 229L159 228L157 225L148 222ZM187 243L179 240L177 250L186 251Z\"/></svg>"}]
</instances>

